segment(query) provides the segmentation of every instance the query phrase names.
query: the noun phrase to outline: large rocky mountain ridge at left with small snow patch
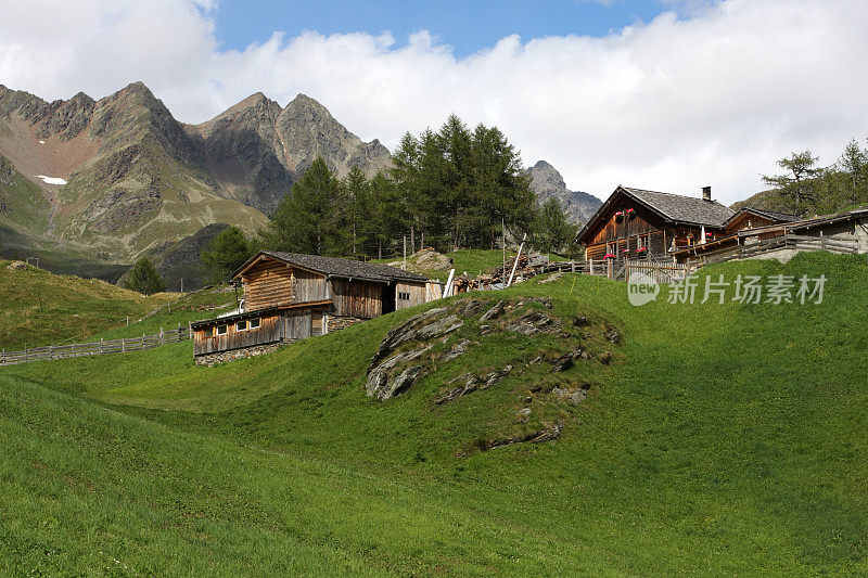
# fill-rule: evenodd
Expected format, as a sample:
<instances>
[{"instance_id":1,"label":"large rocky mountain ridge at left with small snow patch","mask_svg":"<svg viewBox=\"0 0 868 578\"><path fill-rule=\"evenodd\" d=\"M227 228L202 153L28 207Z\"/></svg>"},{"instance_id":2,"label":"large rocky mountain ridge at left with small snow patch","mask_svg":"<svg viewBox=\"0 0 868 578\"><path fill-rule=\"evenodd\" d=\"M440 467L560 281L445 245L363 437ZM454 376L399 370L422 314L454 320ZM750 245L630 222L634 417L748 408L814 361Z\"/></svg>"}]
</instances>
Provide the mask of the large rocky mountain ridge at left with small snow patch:
<instances>
[{"instance_id":1,"label":"large rocky mountain ridge at left with small snow patch","mask_svg":"<svg viewBox=\"0 0 868 578\"><path fill-rule=\"evenodd\" d=\"M257 230L319 155L339 176L391 162L385 146L362 142L304 94L281 108L256 93L188 125L142 82L52 102L0 85L0 155L48 200L47 240L107 262L213 223Z\"/></svg>"}]
</instances>

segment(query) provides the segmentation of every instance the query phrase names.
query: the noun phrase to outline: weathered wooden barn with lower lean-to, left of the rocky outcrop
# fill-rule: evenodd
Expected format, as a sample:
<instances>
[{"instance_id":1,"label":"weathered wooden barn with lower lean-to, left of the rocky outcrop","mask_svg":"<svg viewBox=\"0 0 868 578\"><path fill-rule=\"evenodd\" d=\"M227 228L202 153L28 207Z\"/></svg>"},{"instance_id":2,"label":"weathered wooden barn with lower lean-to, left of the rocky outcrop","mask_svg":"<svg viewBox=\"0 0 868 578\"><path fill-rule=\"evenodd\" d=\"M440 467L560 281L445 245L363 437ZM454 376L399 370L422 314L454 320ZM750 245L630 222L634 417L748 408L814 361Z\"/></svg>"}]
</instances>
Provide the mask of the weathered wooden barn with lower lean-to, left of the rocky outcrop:
<instances>
[{"instance_id":1,"label":"weathered wooden barn with lower lean-to, left of the rocky outcrop","mask_svg":"<svg viewBox=\"0 0 868 578\"><path fill-rule=\"evenodd\" d=\"M197 363L337 331L439 294L431 286L437 282L387 265L269 251L232 280L244 290L239 311L192 324Z\"/></svg>"}]
</instances>

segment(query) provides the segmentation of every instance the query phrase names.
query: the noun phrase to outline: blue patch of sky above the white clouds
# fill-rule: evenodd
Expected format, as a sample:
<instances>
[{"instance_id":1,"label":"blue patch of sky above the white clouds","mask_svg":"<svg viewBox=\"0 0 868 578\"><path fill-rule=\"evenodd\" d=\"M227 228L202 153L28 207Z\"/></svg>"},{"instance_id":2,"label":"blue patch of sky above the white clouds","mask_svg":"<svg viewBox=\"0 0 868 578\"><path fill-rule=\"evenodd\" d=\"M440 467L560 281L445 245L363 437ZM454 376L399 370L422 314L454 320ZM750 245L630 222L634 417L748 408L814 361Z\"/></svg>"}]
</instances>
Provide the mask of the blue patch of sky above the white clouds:
<instances>
[{"instance_id":1,"label":"blue patch of sky above the white clouds","mask_svg":"<svg viewBox=\"0 0 868 578\"><path fill-rule=\"evenodd\" d=\"M267 41L275 31L292 37L305 30L327 36L388 30L400 44L424 29L461 57L512 34L524 41L545 36L599 37L648 22L667 7L672 2L664 5L653 0L220 0L214 16L225 49L243 50L252 42Z\"/></svg>"}]
</instances>

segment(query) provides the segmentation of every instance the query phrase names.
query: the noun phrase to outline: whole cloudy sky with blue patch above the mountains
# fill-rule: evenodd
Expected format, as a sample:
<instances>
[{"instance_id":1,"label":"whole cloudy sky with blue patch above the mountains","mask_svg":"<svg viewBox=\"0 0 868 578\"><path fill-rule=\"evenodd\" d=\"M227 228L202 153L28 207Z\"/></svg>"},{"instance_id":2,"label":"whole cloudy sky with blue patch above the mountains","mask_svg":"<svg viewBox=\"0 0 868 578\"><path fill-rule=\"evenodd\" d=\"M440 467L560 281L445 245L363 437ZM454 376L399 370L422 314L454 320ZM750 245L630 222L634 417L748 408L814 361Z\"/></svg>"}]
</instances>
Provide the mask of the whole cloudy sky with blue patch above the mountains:
<instances>
[{"instance_id":1,"label":"whole cloudy sky with blue patch above the mountains","mask_svg":"<svg viewBox=\"0 0 868 578\"><path fill-rule=\"evenodd\" d=\"M865 0L3 0L0 84L143 80L179 120L304 92L391 149L449 113L526 165L731 203L795 150L868 137Z\"/></svg>"}]
</instances>

